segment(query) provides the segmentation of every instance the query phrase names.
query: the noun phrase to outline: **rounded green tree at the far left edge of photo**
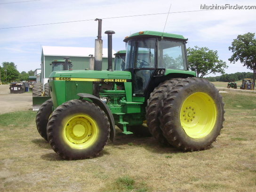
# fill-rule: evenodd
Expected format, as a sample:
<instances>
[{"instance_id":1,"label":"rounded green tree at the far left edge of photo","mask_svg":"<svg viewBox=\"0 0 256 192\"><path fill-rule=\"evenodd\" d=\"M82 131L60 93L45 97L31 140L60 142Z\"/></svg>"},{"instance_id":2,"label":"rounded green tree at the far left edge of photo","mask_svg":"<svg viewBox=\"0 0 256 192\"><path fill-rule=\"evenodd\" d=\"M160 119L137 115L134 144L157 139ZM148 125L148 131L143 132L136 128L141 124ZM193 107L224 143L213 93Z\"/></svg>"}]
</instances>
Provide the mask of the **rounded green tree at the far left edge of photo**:
<instances>
[{"instance_id":1,"label":"rounded green tree at the far left edge of photo","mask_svg":"<svg viewBox=\"0 0 256 192\"><path fill-rule=\"evenodd\" d=\"M1 79L7 82L15 81L19 78L19 72L16 69L16 65L13 62L3 62L1 68Z\"/></svg>"}]
</instances>

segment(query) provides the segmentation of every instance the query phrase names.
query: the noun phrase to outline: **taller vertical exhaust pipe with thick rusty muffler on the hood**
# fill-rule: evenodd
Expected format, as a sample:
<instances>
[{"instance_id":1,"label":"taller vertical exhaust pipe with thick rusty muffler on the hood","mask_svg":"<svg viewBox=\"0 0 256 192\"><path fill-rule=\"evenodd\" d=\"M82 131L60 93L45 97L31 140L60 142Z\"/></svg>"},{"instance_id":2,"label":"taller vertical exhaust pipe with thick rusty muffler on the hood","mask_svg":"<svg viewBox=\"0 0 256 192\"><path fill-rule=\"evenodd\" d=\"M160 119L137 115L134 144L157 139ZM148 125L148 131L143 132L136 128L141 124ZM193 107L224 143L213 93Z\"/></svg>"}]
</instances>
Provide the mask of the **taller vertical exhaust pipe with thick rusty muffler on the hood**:
<instances>
[{"instance_id":1,"label":"taller vertical exhaust pipe with thick rusty muffler on the hood","mask_svg":"<svg viewBox=\"0 0 256 192\"><path fill-rule=\"evenodd\" d=\"M98 21L98 36L95 40L95 58L94 58L94 70L101 71L102 70L102 48L103 48L103 40L101 39L101 29L102 29L102 19L95 19Z\"/></svg>"}]
</instances>

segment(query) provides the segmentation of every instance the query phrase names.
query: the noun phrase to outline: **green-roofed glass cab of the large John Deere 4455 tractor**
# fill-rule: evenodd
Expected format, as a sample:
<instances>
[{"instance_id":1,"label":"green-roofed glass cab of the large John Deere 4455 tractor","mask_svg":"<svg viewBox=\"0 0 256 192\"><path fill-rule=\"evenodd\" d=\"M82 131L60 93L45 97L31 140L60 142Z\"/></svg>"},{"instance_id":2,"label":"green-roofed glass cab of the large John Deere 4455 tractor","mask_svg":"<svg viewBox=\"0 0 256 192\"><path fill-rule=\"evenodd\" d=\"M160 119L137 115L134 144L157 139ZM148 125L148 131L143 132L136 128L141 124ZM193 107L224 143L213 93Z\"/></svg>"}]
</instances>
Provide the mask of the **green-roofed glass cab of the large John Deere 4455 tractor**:
<instances>
[{"instance_id":1,"label":"green-roofed glass cab of the large John Deere 4455 tractor","mask_svg":"<svg viewBox=\"0 0 256 192\"><path fill-rule=\"evenodd\" d=\"M186 40L182 35L152 31L137 32L125 38L125 71L132 73L133 96L147 97L174 70L179 77L184 71L187 73Z\"/></svg>"}]
</instances>

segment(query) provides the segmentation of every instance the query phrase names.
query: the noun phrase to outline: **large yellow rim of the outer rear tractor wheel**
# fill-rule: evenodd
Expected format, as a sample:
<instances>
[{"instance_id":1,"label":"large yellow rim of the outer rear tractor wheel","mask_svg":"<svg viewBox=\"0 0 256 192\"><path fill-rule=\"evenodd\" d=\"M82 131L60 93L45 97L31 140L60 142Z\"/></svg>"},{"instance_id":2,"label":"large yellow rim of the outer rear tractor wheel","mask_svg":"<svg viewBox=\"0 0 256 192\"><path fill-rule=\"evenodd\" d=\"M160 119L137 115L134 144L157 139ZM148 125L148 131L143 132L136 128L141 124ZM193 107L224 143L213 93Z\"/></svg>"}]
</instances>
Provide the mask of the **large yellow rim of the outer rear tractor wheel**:
<instances>
[{"instance_id":1,"label":"large yellow rim of the outer rear tractor wheel","mask_svg":"<svg viewBox=\"0 0 256 192\"><path fill-rule=\"evenodd\" d=\"M196 92L182 104L180 122L185 133L195 139L207 136L215 126L216 104L207 93Z\"/></svg>"}]
</instances>

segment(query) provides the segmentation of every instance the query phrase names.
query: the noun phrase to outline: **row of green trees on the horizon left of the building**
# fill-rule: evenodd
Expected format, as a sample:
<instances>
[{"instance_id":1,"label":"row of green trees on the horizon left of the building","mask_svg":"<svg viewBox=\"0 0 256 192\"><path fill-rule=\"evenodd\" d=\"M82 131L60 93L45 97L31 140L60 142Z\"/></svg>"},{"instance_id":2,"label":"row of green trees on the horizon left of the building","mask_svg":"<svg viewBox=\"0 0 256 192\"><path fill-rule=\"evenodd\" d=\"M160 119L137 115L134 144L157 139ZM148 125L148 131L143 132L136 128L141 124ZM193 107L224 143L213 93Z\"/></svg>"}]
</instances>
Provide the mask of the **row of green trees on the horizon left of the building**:
<instances>
[{"instance_id":1,"label":"row of green trees on the horizon left of the building","mask_svg":"<svg viewBox=\"0 0 256 192\"><path fill-rule=\"evenodd\" d=\"M0 80L2 82L26 81L29 76L34 76L34 71L18 72L17 65L13 62L3 62L0 66Z\"/></svg>"}]
</instances>

